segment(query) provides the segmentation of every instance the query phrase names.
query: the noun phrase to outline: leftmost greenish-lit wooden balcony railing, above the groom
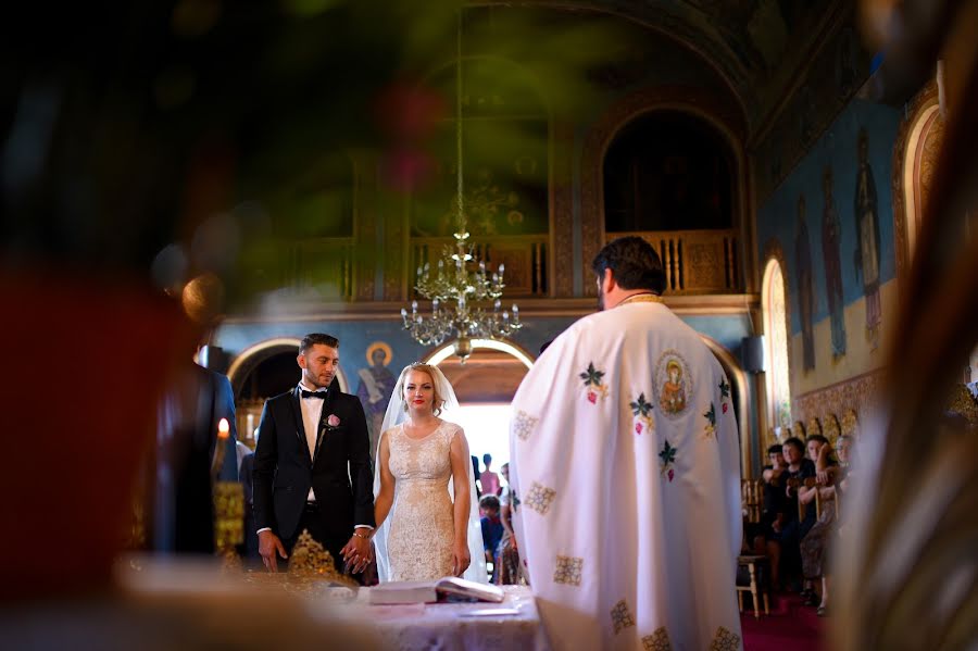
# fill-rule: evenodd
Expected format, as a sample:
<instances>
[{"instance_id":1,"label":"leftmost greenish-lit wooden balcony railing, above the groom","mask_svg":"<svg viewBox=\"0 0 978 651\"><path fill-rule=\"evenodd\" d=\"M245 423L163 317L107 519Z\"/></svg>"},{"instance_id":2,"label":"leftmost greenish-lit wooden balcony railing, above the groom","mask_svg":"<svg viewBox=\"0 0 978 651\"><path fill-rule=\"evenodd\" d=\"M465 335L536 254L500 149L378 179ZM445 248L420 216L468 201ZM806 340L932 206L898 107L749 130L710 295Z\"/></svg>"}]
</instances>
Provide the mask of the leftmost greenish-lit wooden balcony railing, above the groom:
<instances>
[{"instance_id":1,"label":"leftmost greenish-lit wooden balcony railing, above the groom","mask_svg":"<svg viewBox=\"0 0 978 651\"><path fill-rule=\"evenodd\" d=\"M336 237L293 242L286 252L285 286L315 288L324 298L353 298L353 238Z\"/></svg>"}]
</instances>

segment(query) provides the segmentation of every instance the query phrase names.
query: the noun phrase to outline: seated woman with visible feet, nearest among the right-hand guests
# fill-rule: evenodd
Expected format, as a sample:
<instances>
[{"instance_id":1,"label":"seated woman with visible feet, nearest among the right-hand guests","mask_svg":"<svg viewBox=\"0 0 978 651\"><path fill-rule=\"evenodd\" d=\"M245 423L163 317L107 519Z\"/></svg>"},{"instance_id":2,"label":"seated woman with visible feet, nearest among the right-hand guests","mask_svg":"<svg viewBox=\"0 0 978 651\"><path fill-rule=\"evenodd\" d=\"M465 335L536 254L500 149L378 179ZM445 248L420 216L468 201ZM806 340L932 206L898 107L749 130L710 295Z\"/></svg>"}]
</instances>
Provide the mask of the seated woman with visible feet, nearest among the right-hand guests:
<instances>
[{"instance_id":1,"label":"seated woman with visible feet, nearest among the right-hand guests","mask_svg":"<svg viewBox=\"0 0 978 651\"><path fill-rule=\"evenodd\" d=\"M826 565L826 549L833 538L836 530L836 494L832 488L835 468L838 466L831 456L832 447L828 439L820 435L810 436L807 439L808 459L815 463L816 477L818 484L812 488L802 489L799 492L799 500L808 503L815 500L815 493L822 501L822 513L815 524L808 530L807 535L802 538L799 550L802 558L802 574L806 581L822 578L824 576L823 567ZM806 603L815 605L816 594L814 591L807 594ZM819 613L825 614L828 606L828 594L823 583L822 605Z\"/></svg>"}]
</instances>

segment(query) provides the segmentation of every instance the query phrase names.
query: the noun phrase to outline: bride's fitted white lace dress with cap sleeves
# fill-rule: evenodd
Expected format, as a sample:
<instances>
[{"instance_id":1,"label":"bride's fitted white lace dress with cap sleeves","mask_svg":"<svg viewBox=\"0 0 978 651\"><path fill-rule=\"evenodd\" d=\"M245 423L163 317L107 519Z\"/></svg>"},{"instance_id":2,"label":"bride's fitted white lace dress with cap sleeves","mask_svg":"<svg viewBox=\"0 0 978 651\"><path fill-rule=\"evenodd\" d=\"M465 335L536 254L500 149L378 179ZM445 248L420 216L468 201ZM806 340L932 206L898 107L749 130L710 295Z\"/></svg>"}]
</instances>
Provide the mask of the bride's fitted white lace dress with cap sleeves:
<instances>
[{"instance_id":1,"label":"bride's fitted white lace dress with cap sleeves","mask_svg":"<svg viewBox=\"0 0 978 651\"><path fill-rule=\"evenodd\" d=\"M452 574L455 529L448 484L456 435L464 436L462 428L446 421L422 439L404 434L403 424L386 434L396 480L387 537L390 580L432 580Z\"/></svg>"}]
</instances>

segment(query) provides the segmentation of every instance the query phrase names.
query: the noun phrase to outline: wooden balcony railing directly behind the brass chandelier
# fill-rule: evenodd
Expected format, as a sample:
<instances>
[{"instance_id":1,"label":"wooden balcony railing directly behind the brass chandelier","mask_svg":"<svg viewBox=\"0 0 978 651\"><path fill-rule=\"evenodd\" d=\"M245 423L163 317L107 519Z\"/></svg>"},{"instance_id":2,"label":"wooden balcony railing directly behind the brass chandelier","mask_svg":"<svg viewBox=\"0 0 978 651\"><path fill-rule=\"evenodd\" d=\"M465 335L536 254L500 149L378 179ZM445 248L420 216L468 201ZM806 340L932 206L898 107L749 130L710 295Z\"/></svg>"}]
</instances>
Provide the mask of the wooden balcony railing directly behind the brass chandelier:
<instances>
[{"instance_id":1,"label":"wooden balcony railing directly behind the brass chandelier","mask_svg":"<svg viewBox=\"0 0 978 651\"><path fill-rule=\"evenodd\" d=\"M547 271L547 235L474 236L473 252L487 267L494 270L500 263L506 265L503 281L506 297L544 297L550 287ZM417 268L430 263L438 265L446 247L453 248L451 237L411 238L411 281L409 293L414 295Z\"/></svg>"}]
</instances>

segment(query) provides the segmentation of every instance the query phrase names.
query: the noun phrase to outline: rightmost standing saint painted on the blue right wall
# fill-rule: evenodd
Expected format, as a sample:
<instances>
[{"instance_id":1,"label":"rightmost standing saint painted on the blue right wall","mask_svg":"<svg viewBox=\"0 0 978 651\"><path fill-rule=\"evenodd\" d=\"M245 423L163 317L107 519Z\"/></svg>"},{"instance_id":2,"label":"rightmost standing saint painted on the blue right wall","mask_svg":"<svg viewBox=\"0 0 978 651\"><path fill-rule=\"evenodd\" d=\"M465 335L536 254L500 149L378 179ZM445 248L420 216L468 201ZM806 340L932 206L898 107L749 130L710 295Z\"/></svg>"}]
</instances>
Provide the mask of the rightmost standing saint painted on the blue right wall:
<instances>
[{"instance_id":1,"label":"rightmost standing saint painted on the blue right wall","mask_svg":"<svg viewBox=\"0 0 978 651\"><path fill-rule=\"evenodd\" d=\"M879 324L882 305L879 298L879 214L876 204L876 181L869 166L869 138L865 128L858 135L858 171L855 191L856 278L862 278L866 297L866 338L874 349L879 345Z\"/></svg>"}]
</instances>

